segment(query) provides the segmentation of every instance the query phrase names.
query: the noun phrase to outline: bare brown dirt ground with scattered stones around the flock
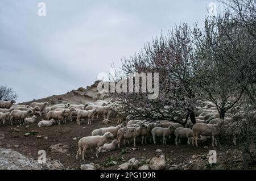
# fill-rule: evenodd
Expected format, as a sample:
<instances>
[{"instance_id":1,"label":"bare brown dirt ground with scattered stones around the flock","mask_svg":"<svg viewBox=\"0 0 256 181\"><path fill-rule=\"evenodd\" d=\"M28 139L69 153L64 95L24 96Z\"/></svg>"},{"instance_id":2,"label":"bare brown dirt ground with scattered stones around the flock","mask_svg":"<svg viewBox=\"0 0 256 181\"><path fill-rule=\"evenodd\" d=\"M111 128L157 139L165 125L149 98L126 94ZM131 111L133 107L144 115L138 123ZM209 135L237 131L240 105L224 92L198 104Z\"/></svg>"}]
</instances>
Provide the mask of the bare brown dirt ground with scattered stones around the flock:
<instances>
[{"instance_id":1,"label":"bare brown dirt ground with scattered stones around the flock","mask_svg":"<svg viewBox=\"0 0 256 181\"><path fill-rule=\"evenodd\" d=\"M203 169L203 167L201 166L208 163L207 154L209 150L212 149L210 146L210 142L200 143L199 147L195 148L191 145L187 145L185 141L183 142L183 144L175 145L174 140L170 140L165 146L160 144L141 145L138 141L137 150L132 150L133 145L122 145L120 149L111 151L109 153L101 153L99 154L99 158L96 158L96 151L93 149L86 151L85 162L82 161L81 157L77 161L76 151L79 138L90 136L93 129L115 125L116 120L112 118L111 120L113 121L109 125L101 124L102 119L94 119L91 125L84 123L80 126L77 126L75 121L73 121L66 124L53 125L52 127L38 128L37 123L39 120L42 119L45 118L39 117L36 120L36 123L29 125L29 128L26 128L26 126L20 127L17 124L14 126L10 126L8 124L1 125L0 132L5 134L5 138L3 140L0 140L0 147L16 150L19 153L22 153L27 157L31 157L33 159L38 159L39 150L45 150L47 158L59 160L64 165L65 169L79 169L80 165L92 162L96 165L97 169L118 169L118 165L127 162L130 158L136 158L141 163L146 163L147 159L151 159L152 157L160 155L156 153L156 149L163 150L162 154L166 155L167 169L172 165L184 165L189 163L193 155L200 157L200 162L201 160L203 162L198 163L199 165L197 166L193 166L192 169ZM14 131L14 129L19 129L19 131ZM36 131L37 133L35 135L24 136L25 133L31 131ZM42 137L38 138L37 136ZM44 137L48 137L48 139L46 140L44 139ZM77 137L76 141L72 139L74 137ZM67 153L51 152L50 146L59 143L69 146ZM18 148L15 148L14 145L19 146ZM218 147L214 149L217 151L218 155L222 155L228 148ZM116 161L117 163L115 165L108 165L107 163L109 161ZM221 166L221 169L226 169L226 167ZM232 168L228 167L228 169Z\"/></svg>"}]
</instances>

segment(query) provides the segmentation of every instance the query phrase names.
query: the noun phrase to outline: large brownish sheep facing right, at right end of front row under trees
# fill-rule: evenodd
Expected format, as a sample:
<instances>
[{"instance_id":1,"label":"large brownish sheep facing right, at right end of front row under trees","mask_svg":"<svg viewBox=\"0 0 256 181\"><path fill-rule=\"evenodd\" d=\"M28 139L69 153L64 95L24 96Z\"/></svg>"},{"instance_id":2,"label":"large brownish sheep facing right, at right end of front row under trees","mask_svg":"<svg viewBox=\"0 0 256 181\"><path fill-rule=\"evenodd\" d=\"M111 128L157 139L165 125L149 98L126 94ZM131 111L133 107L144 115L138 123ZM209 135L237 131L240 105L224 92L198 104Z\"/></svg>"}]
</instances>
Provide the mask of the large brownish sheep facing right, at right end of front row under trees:
<instances>
[{"instance_id":1,"label":"large brownish sheep facing right, at right end of front row under trees","mask_svg":"<svg viewBox=\"0 0 256 181\"><path fill-rule=\"evenodd\" d=\"M192 131L193 131L193 141L192 145L194 146L194 141L196 142L197 146L197 139L199 137L199 134L202 136L212 136L212 146L217 146L217 140L215 137L220 133L220 129L218 128L218 125L220 125L222 121L218 121L217 124L205 124L205 123L196 123L193 125Z\"/></svg>"}]
</instances>

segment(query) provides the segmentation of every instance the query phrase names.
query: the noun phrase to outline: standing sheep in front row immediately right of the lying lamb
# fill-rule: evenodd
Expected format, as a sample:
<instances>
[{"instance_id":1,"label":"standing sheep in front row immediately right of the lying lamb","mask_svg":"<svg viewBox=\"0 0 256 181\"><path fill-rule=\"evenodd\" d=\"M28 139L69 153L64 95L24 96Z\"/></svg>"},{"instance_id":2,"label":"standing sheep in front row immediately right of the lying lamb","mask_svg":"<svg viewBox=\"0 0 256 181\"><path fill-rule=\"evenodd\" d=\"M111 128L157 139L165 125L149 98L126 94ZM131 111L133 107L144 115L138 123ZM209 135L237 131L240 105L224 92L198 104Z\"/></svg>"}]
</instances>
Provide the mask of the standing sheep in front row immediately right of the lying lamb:
<instances>
[{"instance_id":1,"label":"standing sheep in front row immediately right of the lying lamb","mask_svg":"<svg viewBox=\"0 0 256 181\"><path fill-rule=\"evenodd\" d=\"M138 136L141 136L142 129L146 129L145 125L141 125L138 127L134 128L120 128L117 132L117 138L118 138L118 148L120 148L120 143L121 141L124 140L129 140L133 138L133 146L136 146L136 138Z\"/></svg>"}]
</instances>

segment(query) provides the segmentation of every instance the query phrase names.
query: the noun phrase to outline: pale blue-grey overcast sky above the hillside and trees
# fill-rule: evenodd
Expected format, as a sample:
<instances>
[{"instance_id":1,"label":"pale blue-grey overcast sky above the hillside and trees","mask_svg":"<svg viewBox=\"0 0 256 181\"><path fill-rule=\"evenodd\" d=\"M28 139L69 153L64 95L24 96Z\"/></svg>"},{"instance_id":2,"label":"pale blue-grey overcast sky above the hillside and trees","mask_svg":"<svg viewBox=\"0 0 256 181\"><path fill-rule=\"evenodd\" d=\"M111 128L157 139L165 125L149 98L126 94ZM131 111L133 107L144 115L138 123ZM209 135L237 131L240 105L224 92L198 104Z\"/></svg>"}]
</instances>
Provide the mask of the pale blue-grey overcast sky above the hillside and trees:
<instances>
[{"instance_id":1,"label":"pale blue-grey overcast sky above the hillside and trees","mask_svg":"<svg viewBox=\"0 0 256 181\"><path fill-rule=\"evenodd\" d=\"M210 2L1 0L0 85L18 102L86 87L175 23L203 26Z\"/></svg>"}]
</instances>

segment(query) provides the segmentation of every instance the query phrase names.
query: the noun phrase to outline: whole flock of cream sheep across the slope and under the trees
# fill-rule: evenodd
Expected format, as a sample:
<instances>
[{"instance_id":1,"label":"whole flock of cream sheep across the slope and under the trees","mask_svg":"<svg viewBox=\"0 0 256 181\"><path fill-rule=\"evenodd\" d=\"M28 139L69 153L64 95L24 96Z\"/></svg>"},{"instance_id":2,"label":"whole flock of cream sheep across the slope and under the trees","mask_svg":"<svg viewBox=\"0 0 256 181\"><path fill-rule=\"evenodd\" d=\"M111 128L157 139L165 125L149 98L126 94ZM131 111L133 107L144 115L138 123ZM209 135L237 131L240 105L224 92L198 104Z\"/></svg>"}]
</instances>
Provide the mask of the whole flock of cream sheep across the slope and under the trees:
<instances>
[{"instance_id":1,"label":"whole flock of cream sheep across the slope and under the trees","mask_svg":"<svg viewBox=\"0 0 256 181\"><path fill-rule=\"evenodd\" d=\"M196 124L192 124L188 119L185 123L183 117L175 117L174 121L170 120L130 120L128 115L125 120L120 119L121 113L118 113L117 103L112 103L109 100L97 100L96 102L86 104L55 104L49 106L47 102L33 102L28 105L14 104L15 101L0 101L0 124L9 123L13 125L13 121L18 121L20 125L32 124L36 120L36 115L42 116L45 113L47 120L39 121L38 127L50 127L57 121L66 123L67 121L76 120L77 125L80 125L81 120L88 119L88 124L92 124L95 116L104 119L104 123L109 122L109 116L118 115L118 123L115 127L102 127L94 129L92 136L82 137L79 140L76 158L82 154L84 160L85 152L88 148L96 148L96 157L98 153L111 151L120 148L123 144L133 140L133 146L136 146L138 138L141 139L141 144L148 142L161 142L167 144L167 140L175 136L175 144L181 142L181 139L187 139L187 144L197 146L197 142L207 141L212 138L212 146L217 146L218 136L232 136L233 143L236 145L236 138L241 134L241 123L234 121L233 116L242 114L239 107L229 110L225 114L225 119L221 120L216 106L212 102L204 102L204 108L198 108L196 111ZM176 123L179 122L179 123ZM180 124L181 123L181 124ZM182 123L185 123L182 124ZM225 131L223 131L225 130ZM113 140L115 138L115 140ZM110 142L113 140L112 142ZM109 143L110 142L110 143Z\"/></svg>"}]
</instances>

